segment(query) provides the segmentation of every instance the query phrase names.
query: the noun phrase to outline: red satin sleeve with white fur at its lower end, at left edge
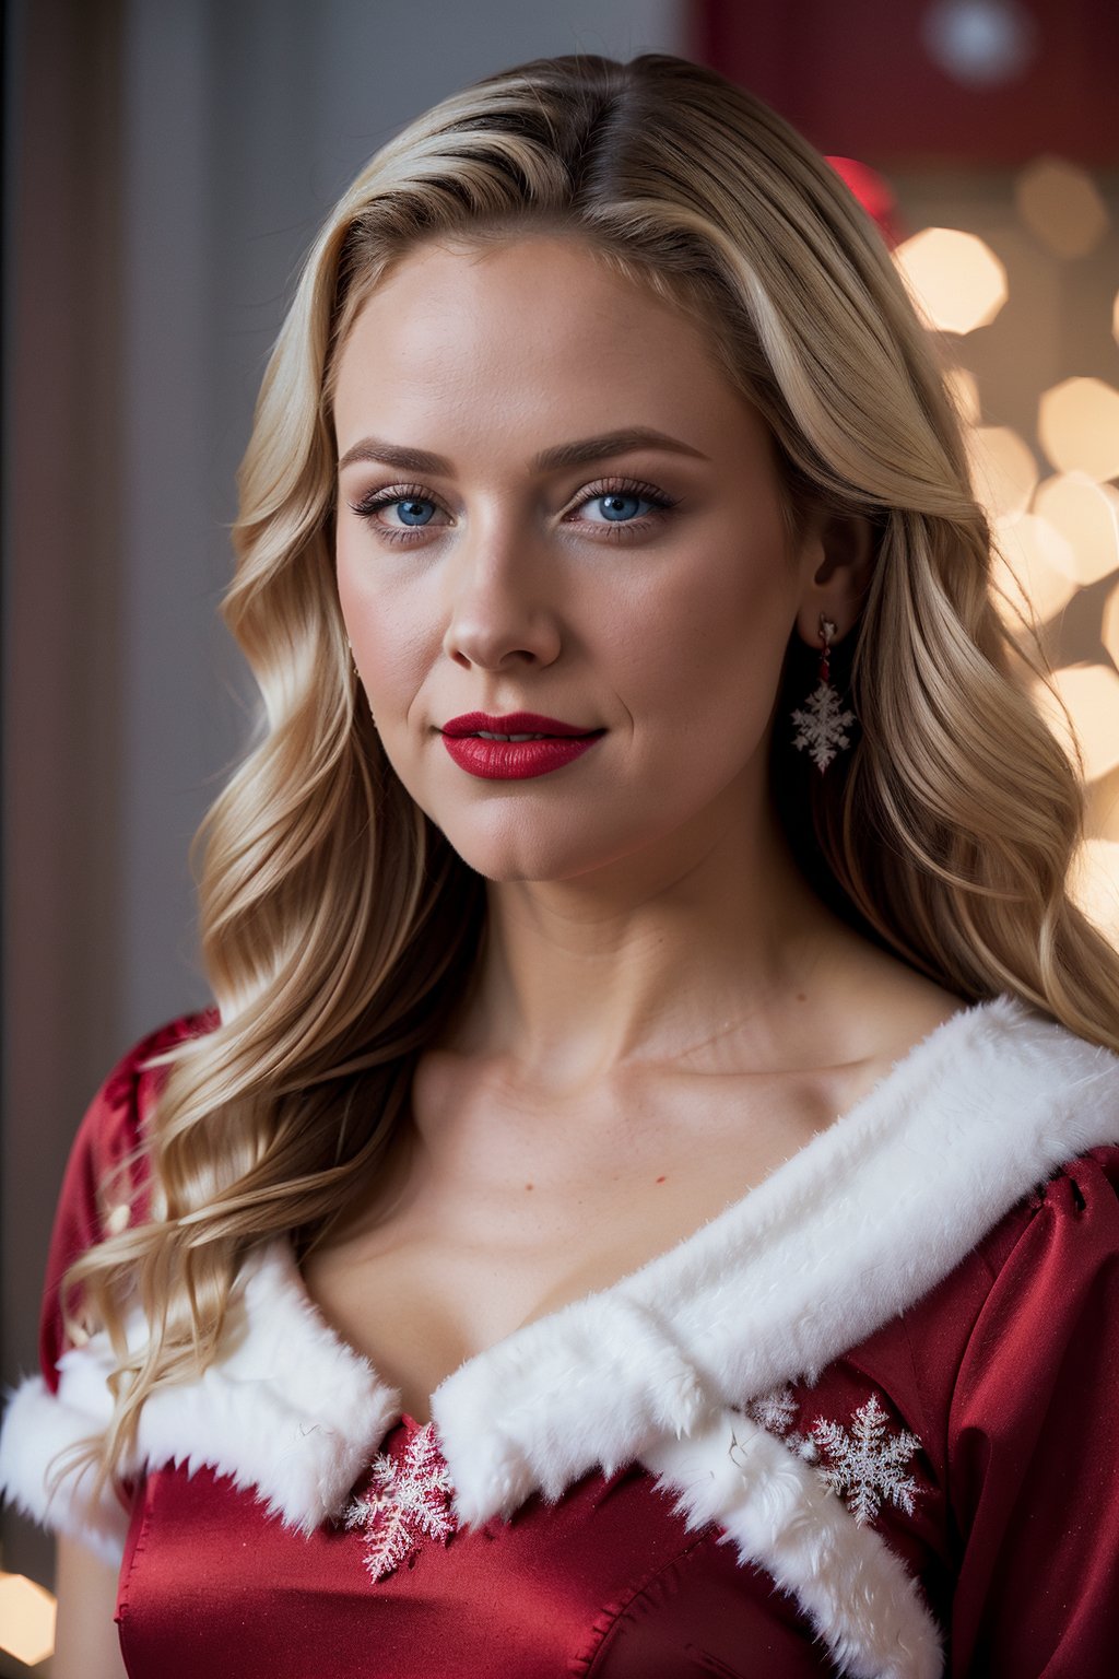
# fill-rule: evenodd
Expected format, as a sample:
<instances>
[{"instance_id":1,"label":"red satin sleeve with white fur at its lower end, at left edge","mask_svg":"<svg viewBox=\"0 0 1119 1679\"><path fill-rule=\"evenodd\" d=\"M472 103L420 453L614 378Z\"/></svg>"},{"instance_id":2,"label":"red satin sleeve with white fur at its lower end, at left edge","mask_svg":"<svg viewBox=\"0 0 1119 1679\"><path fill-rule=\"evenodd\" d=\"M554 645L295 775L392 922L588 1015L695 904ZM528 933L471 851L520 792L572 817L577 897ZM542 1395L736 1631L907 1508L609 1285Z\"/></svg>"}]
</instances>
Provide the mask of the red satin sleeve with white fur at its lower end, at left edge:
<instances>
[{"instance_id":1,"label":"red satin sleeve with white fur at its lower end, at left edge","mask_svg":"<svg viewBox=\"0 0 1119 1679\"><path fill-rule=\"evenodd\" d=\"M0 1427L0 1493L54 1533L117 1560L128 1531L124 1503L104 1489L87 1496L92 1472L55 1471L69 1452L104 1432L112 1397L107 1378L116 1360L106 1331L70 1345L62 1321L65 1269L106 1236L148 1212L148 1185L136 1150L146 1115L164 1076L151 1058L186 1036L211 1029L211 1014L183 1016L134 1044L112 1068L77 1130L54 1219L39 1330L39 1375L8 1395ZM70 1301L70 1305L74 1305Z\"/></svg>"}]
</instances>

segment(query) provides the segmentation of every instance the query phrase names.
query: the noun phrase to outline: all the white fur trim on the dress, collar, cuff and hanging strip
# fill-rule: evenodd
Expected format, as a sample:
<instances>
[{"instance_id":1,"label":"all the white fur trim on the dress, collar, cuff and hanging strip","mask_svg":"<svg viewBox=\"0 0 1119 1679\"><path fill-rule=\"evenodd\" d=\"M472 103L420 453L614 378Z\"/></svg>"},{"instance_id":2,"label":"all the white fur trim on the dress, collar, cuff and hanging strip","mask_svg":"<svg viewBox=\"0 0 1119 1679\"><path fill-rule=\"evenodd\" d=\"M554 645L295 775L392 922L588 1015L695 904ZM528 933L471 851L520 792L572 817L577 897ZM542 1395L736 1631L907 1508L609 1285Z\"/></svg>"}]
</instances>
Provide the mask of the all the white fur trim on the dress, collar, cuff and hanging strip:
<instances>
[{"instance_id":1,"label":"all the white fur trim on the dress, collar, cuff and hanging strip","mask_svg":"<svg viewBox=\"0 0 1119 1679\"><path fill-rule=\"evenodd\" d=\"M862 1662L852 1671L939 1672L898 1558L837 1499L817 1511L805 1466L730 1407L814 1382L948 1276L1033 1185L1116 1142L1119 1056L1012 997L960 1011L740 1202L440 1385L433 1419L460 1523L508 1514L537 1489L557 1498L594 1467L643 1461L690 1519L711 1519L705 1499L721 1488L720 1519L743 1556L817 1603L832 1649ZM143 1333L131 1325L129 1338ZM60 1360L54 1400L44 1405L42 1378L32 1378L12 1402L0 1484L52 1526L77 1523L82 1506L77 1491L60 1491L62 1504L45 1513L47 1447L104 1427L109 1368L106 1336L94 1336ZM327 1326L277 1241L242 1271L223 1357L144 1407L129 1471L208 1464L310 1531L341 1509L398 1415L398 1395ZM755 1481L735 1471L728 1489L720 1478L743 1441ZM780 1499L772 1488L758 1499L758 1466L785 1489L782 1519L802 1546L805 1513L835 1530L824 1548L790 1551ZM107 1553L119 1519L111 1503L82 1518ZM852 1629L856 1600L876 1610ZM894 1645L923 1654L889 1667Z\"/></svg>"}]
</instances>

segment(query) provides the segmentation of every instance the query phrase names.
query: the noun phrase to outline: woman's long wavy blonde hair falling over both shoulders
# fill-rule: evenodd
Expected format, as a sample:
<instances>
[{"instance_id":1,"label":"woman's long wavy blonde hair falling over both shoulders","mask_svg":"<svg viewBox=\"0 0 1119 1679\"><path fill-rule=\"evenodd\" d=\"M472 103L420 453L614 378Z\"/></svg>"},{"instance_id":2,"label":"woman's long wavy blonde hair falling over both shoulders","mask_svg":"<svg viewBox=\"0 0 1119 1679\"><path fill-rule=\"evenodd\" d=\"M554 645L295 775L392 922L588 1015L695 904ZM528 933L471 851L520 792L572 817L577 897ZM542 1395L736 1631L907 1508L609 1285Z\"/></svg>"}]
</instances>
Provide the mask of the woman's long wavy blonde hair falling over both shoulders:
<instances>
[{"instance_id":1,"label":"woman's long wavy blonde hair falling over both shoulders","mask_svg":"<svg viewBox=\"0 0 1119 1679\"><path fill-rule=\"evenodd\" d=\"M339 348L418 242L547 228L691 311L773 435L787 512L867 517L877 564L837 672L859 719L827 776L773 747L802 868L867 937L966 1001L1010 992L1119 1049L1119 957L1069 898L1077 769L1035 709L961 421L896 265L832 168L696 64L542 59L411 123L307 260L240 477L225 620L263 725L200 833L215 1029L163 1056L151 1217L67 1273L117 1352L99 1481L159 1383L215 1357L238 1268L297 1254L369 1192L413 1068L463 999L485 887L406 794L361 704L334 583ZM789 693L810 687L799 645ZM805 677L807 670L807 677ZM126 1303L151 1325L128 1350Z\"/></svg>"}]
</instances>

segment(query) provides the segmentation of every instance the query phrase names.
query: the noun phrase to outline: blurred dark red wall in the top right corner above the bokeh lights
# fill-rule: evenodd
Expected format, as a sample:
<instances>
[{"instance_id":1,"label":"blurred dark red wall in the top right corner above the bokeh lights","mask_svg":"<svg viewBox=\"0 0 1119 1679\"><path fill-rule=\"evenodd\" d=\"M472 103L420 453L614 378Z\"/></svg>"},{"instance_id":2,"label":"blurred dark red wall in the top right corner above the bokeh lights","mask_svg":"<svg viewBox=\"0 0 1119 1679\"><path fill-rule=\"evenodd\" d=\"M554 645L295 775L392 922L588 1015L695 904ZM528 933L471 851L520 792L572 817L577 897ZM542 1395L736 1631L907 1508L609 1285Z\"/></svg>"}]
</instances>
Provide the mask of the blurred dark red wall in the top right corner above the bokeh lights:
<instances>
[{"instance_id":1,"label":"blurred dark red wall in the top right corner above the bokeh lights","mask_svg":"<svg viewBox=\"0 0 1119 1679\"><path fill-rule=\"evenodd\" d=\"M691 57L822 151L881 163L1119 163L1119 0L691 0ZM971 44L971 76L936 62ZM946 42L946 47L945 47ZM1008 67L1008 74L1007 74Z\"/></svg>"}]
</instances>

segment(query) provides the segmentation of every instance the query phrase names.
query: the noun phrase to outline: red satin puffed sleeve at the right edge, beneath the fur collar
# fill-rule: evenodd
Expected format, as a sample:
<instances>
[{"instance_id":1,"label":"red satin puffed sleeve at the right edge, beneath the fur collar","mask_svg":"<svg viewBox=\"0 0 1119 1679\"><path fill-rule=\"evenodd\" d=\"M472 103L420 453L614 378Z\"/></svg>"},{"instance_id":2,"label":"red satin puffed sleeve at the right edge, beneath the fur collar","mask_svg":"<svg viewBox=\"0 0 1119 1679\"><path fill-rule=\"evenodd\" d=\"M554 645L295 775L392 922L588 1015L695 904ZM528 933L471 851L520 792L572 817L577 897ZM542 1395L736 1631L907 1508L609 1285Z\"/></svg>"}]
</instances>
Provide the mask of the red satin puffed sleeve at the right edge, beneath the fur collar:
<instances>
[{"instance_id":1,"label":"red satin puffed sleeve at the right edge, beneath the fur collar","mask_svg":"<svg viewBox=\"0 0 1119 1679\"><path fill-rule=\"evenodd\" d=\"M951 1679L1104 1679L1119 1640L1119 1148L1038 1190L950 1409Z\"/></svg>"}]
</instances>

